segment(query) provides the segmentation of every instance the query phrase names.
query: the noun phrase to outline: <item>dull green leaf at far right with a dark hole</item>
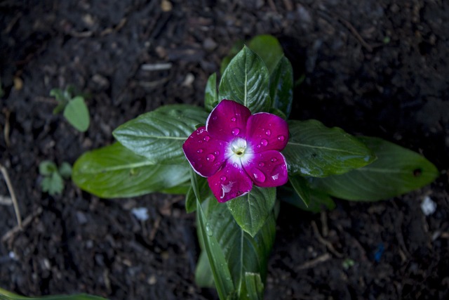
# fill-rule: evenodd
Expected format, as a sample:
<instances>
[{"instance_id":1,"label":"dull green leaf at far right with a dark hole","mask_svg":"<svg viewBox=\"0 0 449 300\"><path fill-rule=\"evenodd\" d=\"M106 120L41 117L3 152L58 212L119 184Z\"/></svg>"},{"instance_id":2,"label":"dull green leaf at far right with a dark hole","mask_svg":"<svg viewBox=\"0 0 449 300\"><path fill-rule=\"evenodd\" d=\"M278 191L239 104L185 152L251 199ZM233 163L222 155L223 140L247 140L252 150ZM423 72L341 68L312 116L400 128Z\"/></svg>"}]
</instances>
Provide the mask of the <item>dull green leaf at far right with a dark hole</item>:
<instances>
[{"instance_id":1,"label":"dull green leaf at far right with a dark hole","mask_svg":"<svg viewBox=\"0 0 449 300\"><path fill-rule=\"evenodd\" d=\"M347 174L311 179L312 187L345 200L377 201L422 188L438 177L434 164L412 150L380 138L360 139L377 160Z\"/></svg>"}]
</instances>

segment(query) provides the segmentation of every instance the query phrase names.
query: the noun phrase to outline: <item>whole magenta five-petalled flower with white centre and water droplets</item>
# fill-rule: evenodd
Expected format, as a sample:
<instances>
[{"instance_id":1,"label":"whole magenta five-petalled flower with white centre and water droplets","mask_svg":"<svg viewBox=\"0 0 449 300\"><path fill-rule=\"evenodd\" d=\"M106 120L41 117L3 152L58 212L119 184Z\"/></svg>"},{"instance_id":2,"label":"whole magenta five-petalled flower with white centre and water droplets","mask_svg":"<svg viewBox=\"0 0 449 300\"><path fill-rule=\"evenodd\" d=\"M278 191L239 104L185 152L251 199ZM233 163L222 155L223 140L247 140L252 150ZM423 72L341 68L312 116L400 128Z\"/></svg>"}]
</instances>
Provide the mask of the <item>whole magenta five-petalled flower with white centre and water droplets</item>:
<instances>
[{"instance_id":1,"label":"whole magenta five-petalled flower with white centre and water droplets","mask_svg":"<svg viewBox=\"0 0 449 300\"><path fill-rule=\"evenodd\" d=\"M253 184L263 188L288 181L281 150L288 142L285 120L267 112L222 100L187 138L182 150L192 168L208 178L218 202L245 195Z\"/></svg>"}]
</instances>

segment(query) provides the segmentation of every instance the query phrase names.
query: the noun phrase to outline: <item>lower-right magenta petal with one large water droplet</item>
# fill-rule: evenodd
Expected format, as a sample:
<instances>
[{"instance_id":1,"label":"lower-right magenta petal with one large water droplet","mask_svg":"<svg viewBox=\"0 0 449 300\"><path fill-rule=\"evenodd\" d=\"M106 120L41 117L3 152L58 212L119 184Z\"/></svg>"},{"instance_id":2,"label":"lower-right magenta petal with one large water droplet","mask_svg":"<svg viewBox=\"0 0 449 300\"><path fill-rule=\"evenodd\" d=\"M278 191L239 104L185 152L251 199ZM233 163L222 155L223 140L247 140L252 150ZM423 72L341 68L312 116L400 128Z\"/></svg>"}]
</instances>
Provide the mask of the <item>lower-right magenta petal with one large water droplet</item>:
<instances>
[{"instance_id":1,"label":"lower-right magenta petal with one large water droplet","mask_svg":"<svg viewBox=\"0 0 449 300\"><path fill-rule=\"evenodd\" d=\"M262 188L272 188L288 181L286 159L281 152L268 150L256 153L243 168L254 184Z\"/></svg>"}]
</instances>

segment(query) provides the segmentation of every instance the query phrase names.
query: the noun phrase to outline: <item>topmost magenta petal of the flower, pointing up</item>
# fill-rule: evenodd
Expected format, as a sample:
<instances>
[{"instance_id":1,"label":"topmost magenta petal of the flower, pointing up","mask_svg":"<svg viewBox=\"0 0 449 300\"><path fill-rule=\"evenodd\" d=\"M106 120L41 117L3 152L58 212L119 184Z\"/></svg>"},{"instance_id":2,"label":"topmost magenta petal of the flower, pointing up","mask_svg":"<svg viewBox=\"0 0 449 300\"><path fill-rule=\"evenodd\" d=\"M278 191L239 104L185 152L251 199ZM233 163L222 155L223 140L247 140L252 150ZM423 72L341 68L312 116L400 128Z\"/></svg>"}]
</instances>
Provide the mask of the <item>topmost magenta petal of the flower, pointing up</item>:
<instances>
[{"instance_id":1,"label":"topmost magenta petal of the flower, pointing up","mask_svg":"<svg viewBox=\"0 0 449 300\"><path fill-rule=\"evenodd\" d=\"M251 112L232 100L222 100L208 117L206 129L210 136L221 141L232 141L236 137L245 138L246 122Z\"/></svg>"}]
</instances>

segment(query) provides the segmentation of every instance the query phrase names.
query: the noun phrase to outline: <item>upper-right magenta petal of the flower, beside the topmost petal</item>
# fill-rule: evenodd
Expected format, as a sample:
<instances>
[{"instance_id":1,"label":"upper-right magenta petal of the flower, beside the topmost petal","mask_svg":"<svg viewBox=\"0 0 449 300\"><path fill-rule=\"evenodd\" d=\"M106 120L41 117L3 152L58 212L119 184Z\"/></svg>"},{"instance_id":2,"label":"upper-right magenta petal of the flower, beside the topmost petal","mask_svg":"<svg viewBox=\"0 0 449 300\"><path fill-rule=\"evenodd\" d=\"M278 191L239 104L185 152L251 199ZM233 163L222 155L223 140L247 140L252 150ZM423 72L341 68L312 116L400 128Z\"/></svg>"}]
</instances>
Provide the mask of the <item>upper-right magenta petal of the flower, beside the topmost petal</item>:
<instances>
[{"instance_id":1,"label":"upper-right magenta petal of the flower, beside the topmost petal","mask_svg":"<svg viewBox=\"0 0 449 300\"><path fill-rule=\"evenodd\" d=\"M246 141L255 153L283 150L288 142L288 124L281 117L259 112L248 118Z\"/></svg>"}]
</instances>

